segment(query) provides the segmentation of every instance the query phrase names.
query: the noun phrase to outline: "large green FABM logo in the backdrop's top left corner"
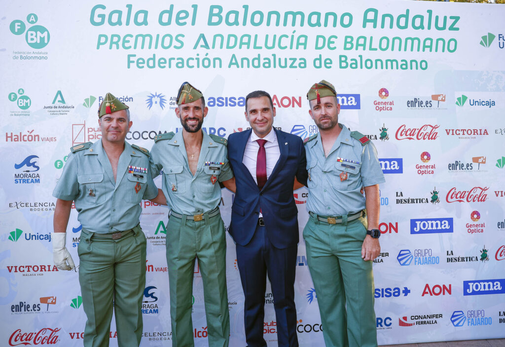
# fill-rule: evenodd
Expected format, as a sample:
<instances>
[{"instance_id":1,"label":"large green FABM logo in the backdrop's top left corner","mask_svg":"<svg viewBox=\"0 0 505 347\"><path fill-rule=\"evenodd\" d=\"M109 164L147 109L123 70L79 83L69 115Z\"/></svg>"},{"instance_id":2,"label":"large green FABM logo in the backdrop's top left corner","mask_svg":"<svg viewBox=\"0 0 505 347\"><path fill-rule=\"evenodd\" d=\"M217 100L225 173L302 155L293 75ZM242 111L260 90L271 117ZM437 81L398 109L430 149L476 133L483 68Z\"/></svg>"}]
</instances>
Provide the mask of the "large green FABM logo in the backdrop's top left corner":
<instances>
[{"instance_id":1,"label":"large green FABM logo in the backdrop's top left corner","mask_svg":"<svg viewBox=\"0 0 505 347\"><path fill-rule=\"evenodd\" d=\"M26 22L28 25L31 25L28 29L26 28L25 22L20 19L16 19L11 22L9 28L11 29L11 33L14 35L23 35L25 34L26 43L33 49L41 49L47 46L49 43L49 39L51 39L51 35L49 35L49 31L43 27L42 25L34 25L38 21L38 17L34 13L30 13L26 16ZM44 55L42 55L44 54ZM24 52L20 51L14 52L12 59L14 60L47 60L47 56L45 56L47 52Z\"/></svg>"}]
</instances>

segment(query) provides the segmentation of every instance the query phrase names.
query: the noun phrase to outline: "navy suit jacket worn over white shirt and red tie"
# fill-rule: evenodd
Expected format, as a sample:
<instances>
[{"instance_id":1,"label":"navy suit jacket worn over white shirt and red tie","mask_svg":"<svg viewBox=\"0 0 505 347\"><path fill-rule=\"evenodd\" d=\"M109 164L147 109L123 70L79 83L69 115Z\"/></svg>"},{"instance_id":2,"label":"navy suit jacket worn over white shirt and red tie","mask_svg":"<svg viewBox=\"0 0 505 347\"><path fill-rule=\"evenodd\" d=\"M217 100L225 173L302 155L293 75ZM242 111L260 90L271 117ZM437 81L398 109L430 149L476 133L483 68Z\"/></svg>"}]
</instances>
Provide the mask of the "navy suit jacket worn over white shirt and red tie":
<instances>
[{"instance_id":1,"label":"navy suit jacket worn over white shirt and red tie","mask_svg":"<svg viewBox=\"0 0 505 347\"><path fill-rule=\"evenodd\" d=\"M280 156L267 183L260 191L242 163L251 129L228 136L228 160L233 168L237 191L231 207L230 235L241 246L254 236L260 208L267 236L276 248L298 243L298 209L293 197L294 177L307 185L307 159L300 137L274 128Z\"/></svg>"}]
</instances>

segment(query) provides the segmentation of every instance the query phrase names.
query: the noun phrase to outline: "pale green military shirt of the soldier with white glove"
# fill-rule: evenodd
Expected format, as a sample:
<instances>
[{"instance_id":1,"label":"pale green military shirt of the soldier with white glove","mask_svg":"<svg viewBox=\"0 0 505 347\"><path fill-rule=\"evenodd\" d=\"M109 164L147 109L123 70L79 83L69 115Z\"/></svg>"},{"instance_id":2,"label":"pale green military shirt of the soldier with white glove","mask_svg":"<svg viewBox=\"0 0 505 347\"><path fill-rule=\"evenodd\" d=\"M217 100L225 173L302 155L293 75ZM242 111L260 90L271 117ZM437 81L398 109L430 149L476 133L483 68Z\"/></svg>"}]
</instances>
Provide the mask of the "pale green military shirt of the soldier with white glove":
<instances>
[{"instance_id":1,"label":"pale green military shirt of the soldier with white glove","mask_svg":"<svg viewBox=\"0 0 505 347\"><path fill-rule=\"evenodd\" d=\"M139 222L140 201L158 195L149 170L148 154L125 141L114 181L102 140L87 143L69 154L53 196L74 200L77 219L90 232L128 230Z\"/></svg>"}]
</instances>

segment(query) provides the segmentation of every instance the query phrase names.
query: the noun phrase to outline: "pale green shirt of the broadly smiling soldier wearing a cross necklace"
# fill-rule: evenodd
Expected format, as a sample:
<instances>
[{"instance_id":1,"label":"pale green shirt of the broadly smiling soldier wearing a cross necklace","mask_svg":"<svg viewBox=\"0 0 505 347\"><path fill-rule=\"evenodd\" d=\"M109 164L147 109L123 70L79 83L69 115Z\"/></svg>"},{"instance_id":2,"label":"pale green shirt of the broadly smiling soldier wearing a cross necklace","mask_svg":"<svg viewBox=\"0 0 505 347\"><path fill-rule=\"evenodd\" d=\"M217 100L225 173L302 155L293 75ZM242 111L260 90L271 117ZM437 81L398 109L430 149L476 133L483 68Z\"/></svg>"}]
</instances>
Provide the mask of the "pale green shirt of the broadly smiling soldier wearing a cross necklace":
<instances>
[{"instance_id":1,"label":"pale green shirt of the broadly smiling soldier wearing a cross necklace","mask_svg":"<svg viewBox=\"0 0 505 347\"><path fill-rule=\"evenodd\" d=\"M221 201L219 183L233 178L228 163L226 140L205 132L195 175L189 163L182 131L163 134L151 149L151 174L163 169L162 190L167 205L180 214L199 214L213 210ZM172 137L173 135L173 137ZM214 182L214 183L213 183Z\"/></svg>"}]
</instances>

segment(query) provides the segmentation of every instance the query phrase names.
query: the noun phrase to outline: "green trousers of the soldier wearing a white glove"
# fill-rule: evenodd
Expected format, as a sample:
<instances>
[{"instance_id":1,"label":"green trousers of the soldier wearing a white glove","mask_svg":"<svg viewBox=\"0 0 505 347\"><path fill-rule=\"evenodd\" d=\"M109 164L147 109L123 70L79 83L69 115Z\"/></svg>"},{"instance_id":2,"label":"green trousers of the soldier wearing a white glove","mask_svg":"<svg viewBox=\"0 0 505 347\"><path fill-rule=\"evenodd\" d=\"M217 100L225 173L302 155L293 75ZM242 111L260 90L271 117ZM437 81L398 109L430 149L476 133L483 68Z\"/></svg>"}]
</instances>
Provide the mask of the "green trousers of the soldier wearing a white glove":
<instances>
[{"instance_id":1,"label":"green trousers of the soldier wearing a white glove","mask_svg":"<svg viewBox=\"0 0 505 347\"><path fill-rule=\"evenodd\" d=\"M114 306L118 345L138 347L142 337L145 236L139 225L118 240L82 229L79 283L87 321L84 347L107 347Z\"/></svg>"}]
</instances>

